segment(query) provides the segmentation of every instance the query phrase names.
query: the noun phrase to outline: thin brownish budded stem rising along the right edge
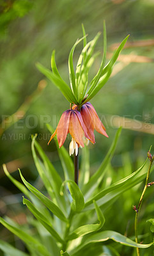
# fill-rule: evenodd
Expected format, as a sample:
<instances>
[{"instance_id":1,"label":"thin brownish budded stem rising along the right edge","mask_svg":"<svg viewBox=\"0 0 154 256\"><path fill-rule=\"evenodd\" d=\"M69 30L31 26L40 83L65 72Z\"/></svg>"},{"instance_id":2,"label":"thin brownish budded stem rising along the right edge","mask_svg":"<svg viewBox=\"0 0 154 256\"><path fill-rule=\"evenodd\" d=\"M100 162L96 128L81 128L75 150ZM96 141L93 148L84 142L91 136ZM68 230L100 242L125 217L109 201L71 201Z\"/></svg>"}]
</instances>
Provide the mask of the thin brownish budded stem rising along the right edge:
<instances>
[{"instance_id":1,"label":"thin brownish budded stem rising along the right edge","mask_svg":"<svg viewBox=\"0 0 154 256\"><path fill-rule=\"evenodd\" d=\"M144 186L144 189L143 189L143 193L141 195L141 198L139 200L139 205L136 209L136 218L135 218L135 235L136 235L136 243L138 243L138 237L137 237L137 220L138 220L138 216L139 216L139 211L141 209L141 204L143 202L143 196L146 192L146 189L147 189L147 185L148 185L148 180L149 180L149 176L150 176L150 170L151 170L151 166L152 166L152 163L153 163L153 159L150 160L150 165L149 165L149 168L148 168L148 173L146 175L146 184ZM139 256L139 248L137 247L136 248L136 252L137 252L137 256Z\"/></svg>"}]
</instances>

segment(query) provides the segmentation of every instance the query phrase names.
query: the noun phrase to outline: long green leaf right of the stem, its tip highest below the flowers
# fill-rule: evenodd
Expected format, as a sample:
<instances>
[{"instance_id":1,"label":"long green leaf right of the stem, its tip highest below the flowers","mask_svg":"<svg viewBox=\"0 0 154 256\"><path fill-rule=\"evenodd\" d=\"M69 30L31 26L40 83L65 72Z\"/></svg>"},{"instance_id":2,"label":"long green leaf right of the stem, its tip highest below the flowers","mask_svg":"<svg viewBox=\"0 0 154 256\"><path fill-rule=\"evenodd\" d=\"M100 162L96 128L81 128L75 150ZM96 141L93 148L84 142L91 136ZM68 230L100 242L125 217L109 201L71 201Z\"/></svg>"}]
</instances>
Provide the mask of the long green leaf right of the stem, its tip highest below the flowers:
<instances>
[{"instance_id":1,"label":"long green leaf right of the stem, its tip highest below the flowers","mask_svg":"<svg viewBox=\"0 0 154 256\"><path fill-rule=\"evenodd\" d=\"M115 135L115 139L113 140L113 143L111 144L111 147L109 148L108 153L106 154L106 157L101 163L101 166L97 170L97 172L92 175L91 179L85 186L83 187L83 194L85 194L85 198L89 198L94 190L99 186L102 178L104 177L104 174L107 170L108 164L111 161L111 158L113 157L113 154L115 152L116 145L118 143L118 138L120 136L120 133L122 131L122 127L118 129Z\"/></svg>"}]
</instances>

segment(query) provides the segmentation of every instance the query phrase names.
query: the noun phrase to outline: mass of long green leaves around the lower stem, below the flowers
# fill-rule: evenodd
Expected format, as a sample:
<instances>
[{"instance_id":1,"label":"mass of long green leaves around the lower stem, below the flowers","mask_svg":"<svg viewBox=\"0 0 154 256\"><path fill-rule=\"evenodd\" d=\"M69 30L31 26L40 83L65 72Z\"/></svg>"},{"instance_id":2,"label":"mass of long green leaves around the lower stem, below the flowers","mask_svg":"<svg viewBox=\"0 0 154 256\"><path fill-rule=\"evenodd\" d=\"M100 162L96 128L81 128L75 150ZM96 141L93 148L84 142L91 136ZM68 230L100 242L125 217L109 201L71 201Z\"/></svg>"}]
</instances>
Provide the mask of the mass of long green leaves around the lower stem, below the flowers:
<instances>
[{"instance_id":1,"label":"mass of long green leaves around the lower stem, below the flowers","mask_svg":"<svg viewBox=\"0 0 154 256\"><path fill-rule=\"evenodd\" d=\"M49 127L49 129L51 131L52 127ZM29 184L20 172L20 177L22 182L24 182L25 188L20 182L17 182L17 180L11 177L4 165L4 172L6 175L16 186L18 186L18 189L29 198L29 200L23 198L23 204L27 206L29 211L31 211L36 218L36 220L30 219L28 221L29 224L37 228L39 236L35 236L36 238L34 238L31 232L27 231L27 228L19 228L17 223L14 223L7 218L6 220L1 218L0 222L4 227L8 228L13 234L24 241L27 250L29 251L29 255L80 256L82 254L88 255L92 253L94 248L97 248L97 250L95 249L96 256L99 256L101 252L108 252L113 256L119 255L116 248L113 249L112 246L109 246L111 242L102 246L102 243L109 239L125 246L138 247L141 249L148 248L153 244L137 244L132 239L129 239L118 232L113 230L102 230L102 227L105 227L105 218L108 221L106 211L109 209L110 205L113 204L115 200L118 200L119 195L122 195L125 191L129 191L130 188L134 188L134 186L139 184L139 182L146 177L144 166L146 166L147 160L141 168L136 170L136 172L130 173L127 177L118 180L104 189L102 188L102 177L106 175L106 168L109 169L109 163L111 162L113 152L115 151L120 132L121 129L116 133L115 140L109 148L109 151L96 174L94 173L90 177L90 169L86 168L85 172L88 172L88 174L85 175L90 177L90 179L85 179L84 175L80 176L81 188L79 188L71 179L62 182L60 176L55 173L52 163L50 163L45 152L43 152L38 141L36 141L36 136L32 138L32 156L36 168L38 169L38 173L48 192L46 195L43 195L38 189ZM55 143L57 143L56 138ZM36 149L38 150L38 155L36 154ZM67 154L62 154L61 157L62 163L66 163L68 157ZM83 154L83 161L85 162L85 166L88 166L89 157L87 148ZM64 172L66 172L66 169L67 167L65 166ZM84 172L84 168L82 168L81 171ZM101 177L98 182L96 182L98 177L96 179L95 175ZM67 169L67 176L69 176L69 168ZM89 184L90 180L92 180L92 191L88 192L90 187L87 184ZM88 196L83 196L82 191ZM50 198L48 198L48 195L50 195ZM45 213L46 211L48 213ZM104 213L102 213L102 211ZM148 221L152 224L151 231L153 232L153 219ZM45 239L44 241L43 237L48 237L49 244L53 243L54 246L46 246L47 240ZM80 240L78 241L78 239ZM78 246L76 246L77 241ZM5 253L9 253L11 250L11 246L7 243L3 243L3 241L0 241L0 248ZM13 248L12 253L16 252L17 255L20 253L19 250ZM10 256L13 255L12 253ZM21 252L21 255L25 256L27 254Z\"/></svg>"}]
</instances>

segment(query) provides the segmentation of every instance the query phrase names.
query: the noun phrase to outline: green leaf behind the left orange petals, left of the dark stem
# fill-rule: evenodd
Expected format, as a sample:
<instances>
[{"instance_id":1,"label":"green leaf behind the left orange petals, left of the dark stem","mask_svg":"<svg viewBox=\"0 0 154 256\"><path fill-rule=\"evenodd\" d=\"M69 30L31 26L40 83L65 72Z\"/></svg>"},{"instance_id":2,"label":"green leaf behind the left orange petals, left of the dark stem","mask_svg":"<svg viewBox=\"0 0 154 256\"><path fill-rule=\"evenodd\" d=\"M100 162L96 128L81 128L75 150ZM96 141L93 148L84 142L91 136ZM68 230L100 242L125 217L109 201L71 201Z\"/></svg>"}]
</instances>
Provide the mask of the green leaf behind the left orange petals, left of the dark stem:
<instances>
[{"instance_id":1,"label":"green leaf behind the left orange petals, left of the dark stem","mask_svg":"<svg viewBox=\"0 0 154 256\"><path fill-rule=\"evenodd\" d=\"M53 128L51 127L51 125L46 124L46 127L48 129L48 131L50 131L51 133L54 132ZM57 141L57 136L54 137L55 140L55 145L57 147L57 151L59 153L59 158L62 164L62 168L64 170L64 177L66 180L74 180L74 164L73 161L71 159L71 157L69 156L69 153L67 152L66 148L64 148L64 146L59 148L59 143Z\"/></svg>"}]
</instances>

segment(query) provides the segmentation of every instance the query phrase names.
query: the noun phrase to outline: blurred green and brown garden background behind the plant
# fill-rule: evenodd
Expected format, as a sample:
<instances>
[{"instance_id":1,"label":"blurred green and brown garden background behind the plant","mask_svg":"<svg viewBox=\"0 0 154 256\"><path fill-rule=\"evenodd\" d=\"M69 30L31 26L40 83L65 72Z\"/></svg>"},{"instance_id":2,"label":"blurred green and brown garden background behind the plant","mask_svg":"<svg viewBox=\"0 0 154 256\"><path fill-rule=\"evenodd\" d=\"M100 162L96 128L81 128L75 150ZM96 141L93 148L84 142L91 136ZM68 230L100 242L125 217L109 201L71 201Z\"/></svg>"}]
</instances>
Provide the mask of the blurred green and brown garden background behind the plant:
<instances>
[{"instance_id":1,"label":"blurred green and brown garden background behind the plant","mask_svg":"<svg viewBox=\"0 0 154 256\"><path fill-rule=\"evenodd\" d=\"M154 141L153 13L153 0L0 1L0 164L6 163L13 177L20 180L16 172L19 167L25 179L37 182L41 187L31 156L31 134L35 133L39 134L39 143L54 166L62 172L54 142L47 147L50 134L45 124L48 122L55 128L69 104L59 90L39 73L35 63L39 61L50 68L50 57L55 49L59 72L69 83L67 59L74 42L82 36L81 23L85 26L89 41L98 31L102 31L104 19L108 59L123 38L129 34L130 37L113 69L113 75L92 99L109 138L95 133L96 143L89 146L91 171L95 172L101 163L120 124L124 129L111 162L115 172L113 180L122 179L144 162ZM81 49L82 44L76 47L74 64ZM101 55L91 69L91 79L101 63L102 49L103 35L95 49ZM16 122L17 119L20 120ZM69 147L69 140L66 140L65 146ZM128 172L124 171L126 167L123 166L129 166ZM20 215L22 203L19 206L17 203L22 202L22 196L0 168L1 215L16 216L17 212ZM137 190L136 200L142 188ZM131 222L134 218L131 205L138 202L130 198L129 205L123 209L123 228L120 227L121 219L119 222L117 219L113 226L106 224L106 228L124 234L128 219ZM113 207L118 211L117 205ZM122 209L123 206L118 207ZM150 206L148 209L150 215L152 209ZM9 232L3 232L5 239L8 237L9 240ZM133 232L132 225L129 235L132 236Z\"/></svg>"}]
</instances>

